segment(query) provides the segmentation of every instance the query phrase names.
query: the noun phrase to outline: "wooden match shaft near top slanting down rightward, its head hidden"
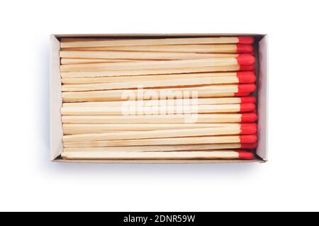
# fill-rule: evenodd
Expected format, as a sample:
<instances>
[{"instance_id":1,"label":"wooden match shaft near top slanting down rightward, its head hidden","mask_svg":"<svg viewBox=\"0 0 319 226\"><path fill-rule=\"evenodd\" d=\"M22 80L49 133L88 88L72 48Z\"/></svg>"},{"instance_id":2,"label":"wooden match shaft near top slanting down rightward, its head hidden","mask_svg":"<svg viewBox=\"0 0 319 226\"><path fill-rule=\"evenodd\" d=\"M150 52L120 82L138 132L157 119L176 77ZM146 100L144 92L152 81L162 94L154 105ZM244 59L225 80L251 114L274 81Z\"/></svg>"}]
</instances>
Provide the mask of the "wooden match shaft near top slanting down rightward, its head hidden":
<instances>
[{"instance_id":1,"label":"wooden match shaft near top slanting down rightward, its head hidden","mask_svg":"<svg viewBox=\"0 0 319 226\"><path fill-rule=\"evenodd\" d=\"M60 57L128 60L191 60L205 58L237 57L237 54L193 52L117 52L117 51L60 51Z\"/></svg>"}]
</instances>

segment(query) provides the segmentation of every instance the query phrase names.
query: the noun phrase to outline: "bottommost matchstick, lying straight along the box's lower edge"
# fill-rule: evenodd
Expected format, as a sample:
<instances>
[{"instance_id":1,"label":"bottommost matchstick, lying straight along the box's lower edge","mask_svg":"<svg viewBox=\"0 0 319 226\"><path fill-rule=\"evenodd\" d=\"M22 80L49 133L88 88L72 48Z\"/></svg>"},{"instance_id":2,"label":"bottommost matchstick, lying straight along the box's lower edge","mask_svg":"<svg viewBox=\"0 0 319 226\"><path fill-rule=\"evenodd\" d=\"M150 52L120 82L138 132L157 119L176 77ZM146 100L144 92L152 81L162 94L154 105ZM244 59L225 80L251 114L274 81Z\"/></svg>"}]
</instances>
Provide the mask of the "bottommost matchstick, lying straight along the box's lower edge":
<instances>
[{"instance_id":1,"label":"bottommost matchstick, lying straight along the box's lower edge","mask_svg":"<svg viewBox=\"0 0 319 226\"><path fill-rule=\"evenodd\" d=\"M198 152L62 152L63 159L253 159L246 151L213 150Z\"/></svg>"}]
</instances>

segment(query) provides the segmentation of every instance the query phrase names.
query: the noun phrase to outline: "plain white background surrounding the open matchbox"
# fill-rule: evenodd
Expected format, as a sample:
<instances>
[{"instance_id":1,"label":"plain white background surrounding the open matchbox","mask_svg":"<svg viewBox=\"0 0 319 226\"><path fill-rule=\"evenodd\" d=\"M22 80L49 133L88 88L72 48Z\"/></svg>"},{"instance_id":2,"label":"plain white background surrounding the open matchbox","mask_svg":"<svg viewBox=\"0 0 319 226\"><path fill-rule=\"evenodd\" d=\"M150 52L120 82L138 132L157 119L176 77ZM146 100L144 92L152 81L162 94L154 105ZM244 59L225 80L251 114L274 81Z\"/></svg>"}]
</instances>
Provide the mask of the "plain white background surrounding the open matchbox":
<instances>
[{"instance_id":1,"label":"plain white background surrounding the open matchbox","mask_svg":"<svg viewBox=\"0 0 319 226\"><path fill-rule=\"evenodd\" d=\"M316 2L1 1L0 210L319 210ZM51 33L269 34L269 162L50 162Z\"/></svg>"}]
</instances>

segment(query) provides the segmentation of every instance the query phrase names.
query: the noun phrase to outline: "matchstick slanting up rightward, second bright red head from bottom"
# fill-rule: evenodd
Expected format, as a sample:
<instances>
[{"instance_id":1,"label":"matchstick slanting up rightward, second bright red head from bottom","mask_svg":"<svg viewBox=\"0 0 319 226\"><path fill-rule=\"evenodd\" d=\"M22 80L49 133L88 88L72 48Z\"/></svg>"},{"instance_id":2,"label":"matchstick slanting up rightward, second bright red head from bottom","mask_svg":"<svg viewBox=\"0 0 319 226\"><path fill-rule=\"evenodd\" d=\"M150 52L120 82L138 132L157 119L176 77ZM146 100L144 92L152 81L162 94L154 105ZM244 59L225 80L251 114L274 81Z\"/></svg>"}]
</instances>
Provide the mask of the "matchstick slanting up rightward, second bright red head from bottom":
<instances>
[{"instance_id":1,"label":"matchstick slanting up rightward, second bright red head from bottom","mask_svg":"<svg viewBox=\"0 0 319 226\"><path fill-rule=\"evenodd\" d=\"M206 137L169 137L155 139L134 139L134 140L103 140L103 141L81 141L63 142L63 147L122 147L122 146L145 146L145 145L197 145L197 144L228 144L240 143L254 144L257 142L256 135L227 135L227 136L206 136Z\"/></svg>"}]
</instances>

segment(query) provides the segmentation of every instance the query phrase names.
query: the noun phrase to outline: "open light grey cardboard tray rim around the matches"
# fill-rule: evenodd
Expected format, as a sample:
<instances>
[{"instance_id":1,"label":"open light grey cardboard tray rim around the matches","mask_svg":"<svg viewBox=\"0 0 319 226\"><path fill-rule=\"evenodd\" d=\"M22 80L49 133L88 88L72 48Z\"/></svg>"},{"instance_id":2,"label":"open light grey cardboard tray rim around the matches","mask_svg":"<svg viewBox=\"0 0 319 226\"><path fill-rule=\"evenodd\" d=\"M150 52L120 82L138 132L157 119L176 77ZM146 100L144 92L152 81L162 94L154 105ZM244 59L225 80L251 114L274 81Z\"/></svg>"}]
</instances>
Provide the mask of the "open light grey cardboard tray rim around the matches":
<instances>
[{"instance_id":1,"label":"open light grey cardboard tray rim around the matches","mask_svg":"<svg viewBox=\"0 0 319 226\"><path fill-rule=\"evenodd\" d=\"M60 109L62 106L62 91L60 77L60 38L147 38L147 37L213 37L252 35L255 38L255 57L257 61L257 114L258 114L258 147L257 157L252 160L240 159L184 159L184 160L65 160L60 157L62 145L62 120ZM51 35L50 52L50 159L53 162L92 162L92 163L247 163L267 161L267 106L268 106L268 78L267 78L267 35L264 34L85 34L85 35ZM123 147L125 149L125 147Z\"/></svg>"}]
</instances>

